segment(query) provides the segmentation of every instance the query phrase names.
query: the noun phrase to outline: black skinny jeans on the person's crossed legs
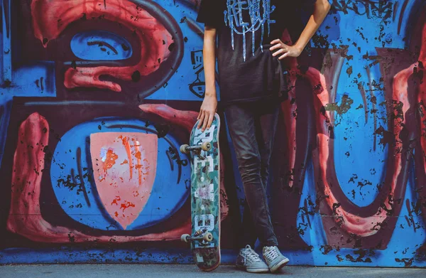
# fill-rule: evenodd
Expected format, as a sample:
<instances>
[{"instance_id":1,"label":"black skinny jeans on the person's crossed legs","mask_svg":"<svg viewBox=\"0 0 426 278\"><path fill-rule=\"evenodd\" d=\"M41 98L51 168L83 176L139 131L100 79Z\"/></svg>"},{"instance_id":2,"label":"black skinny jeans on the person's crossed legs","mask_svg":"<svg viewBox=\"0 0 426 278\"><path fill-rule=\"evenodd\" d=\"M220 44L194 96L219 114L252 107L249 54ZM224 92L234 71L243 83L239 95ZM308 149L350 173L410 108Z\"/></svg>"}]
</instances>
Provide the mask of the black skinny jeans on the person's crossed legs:
<instances>
[{"instance_id":1,"label":"black skinny jeans on the person's crossed legs","mask_svg":"<svg viewBox=\"0 0 426 278\"><path fill-rule=\"evenodd\" d=\"M247 102L225 107L239 172L246 194L240 247L278 246L266 200L269 161L278 121L279 105Z\"/></svg>"}]
</instances>

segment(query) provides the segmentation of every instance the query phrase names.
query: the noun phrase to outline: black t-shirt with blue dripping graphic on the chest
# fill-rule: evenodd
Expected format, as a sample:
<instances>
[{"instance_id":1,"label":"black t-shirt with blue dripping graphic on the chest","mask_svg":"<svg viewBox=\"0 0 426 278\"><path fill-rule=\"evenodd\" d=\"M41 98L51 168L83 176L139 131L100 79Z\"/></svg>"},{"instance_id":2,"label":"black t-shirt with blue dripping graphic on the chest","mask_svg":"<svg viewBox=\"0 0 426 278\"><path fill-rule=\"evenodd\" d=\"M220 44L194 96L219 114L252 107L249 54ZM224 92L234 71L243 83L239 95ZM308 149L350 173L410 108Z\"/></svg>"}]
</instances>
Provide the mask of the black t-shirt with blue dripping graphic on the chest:
<instances>
[{"instance_id":1,"label":"black t-shirt with blue dripping graphic on the chest","mask_svg":"<svg viewBox=\"0 0 426 278\"><path fill-rule=\"evenodd\" d=\"M290 25L302 31L299 11L312 13L315 1L201 1L197 21L217 29L222 105L287 97L285 70L270 43Z\"/></svg>"}]
</instances>

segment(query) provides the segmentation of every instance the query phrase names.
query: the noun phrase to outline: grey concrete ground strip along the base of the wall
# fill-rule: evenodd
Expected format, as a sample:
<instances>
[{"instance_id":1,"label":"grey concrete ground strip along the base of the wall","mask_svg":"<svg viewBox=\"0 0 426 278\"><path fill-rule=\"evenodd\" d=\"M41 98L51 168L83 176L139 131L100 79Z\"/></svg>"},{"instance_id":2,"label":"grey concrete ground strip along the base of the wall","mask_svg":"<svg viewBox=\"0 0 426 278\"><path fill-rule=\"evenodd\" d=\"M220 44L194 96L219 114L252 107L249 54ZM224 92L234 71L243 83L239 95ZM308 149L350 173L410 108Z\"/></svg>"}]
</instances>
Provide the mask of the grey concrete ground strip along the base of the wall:
<instances>
[{"instance_id":1,"label":"grey concrete ground strip along the base of the wall","mask_svg":"<svg viewBox=\"0 0 426 278\"><path fill-rule=\"evenodd\" d=\"M1 278L104 278L104 277L256 277L273 274L249 274L234 266L223 265L214 272L200 272L188 264L45 264L0 266ZM361 267L285 267L278 276L283 277L426 277L426 269L392 269Z\"/></svg>"}]
</instances>

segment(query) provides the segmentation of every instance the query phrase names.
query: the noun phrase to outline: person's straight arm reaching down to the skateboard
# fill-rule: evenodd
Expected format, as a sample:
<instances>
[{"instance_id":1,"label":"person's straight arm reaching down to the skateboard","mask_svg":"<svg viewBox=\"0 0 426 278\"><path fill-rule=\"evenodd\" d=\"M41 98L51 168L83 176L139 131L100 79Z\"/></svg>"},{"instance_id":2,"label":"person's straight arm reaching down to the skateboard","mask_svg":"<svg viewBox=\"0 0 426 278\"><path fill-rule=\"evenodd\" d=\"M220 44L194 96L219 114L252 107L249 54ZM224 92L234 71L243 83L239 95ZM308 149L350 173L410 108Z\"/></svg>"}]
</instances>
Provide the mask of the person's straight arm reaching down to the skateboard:
<instances>
[{"instance_id":1,"label":"person's straight arm reaching down to the skateboard","mask_svg":"<svg viewBox=\"0 0 426 278\"><path fill-rule=\"evenodd\" d=\"M202 128L202 132L212 126L214 113L217 109L217 95L216 95L216 29L206 26L204 28L204 46L203 46L203 60L204 60L204 76L205 88L204 100L201 105L200 120L198 128Z\"/></svg>"}]
</instances>

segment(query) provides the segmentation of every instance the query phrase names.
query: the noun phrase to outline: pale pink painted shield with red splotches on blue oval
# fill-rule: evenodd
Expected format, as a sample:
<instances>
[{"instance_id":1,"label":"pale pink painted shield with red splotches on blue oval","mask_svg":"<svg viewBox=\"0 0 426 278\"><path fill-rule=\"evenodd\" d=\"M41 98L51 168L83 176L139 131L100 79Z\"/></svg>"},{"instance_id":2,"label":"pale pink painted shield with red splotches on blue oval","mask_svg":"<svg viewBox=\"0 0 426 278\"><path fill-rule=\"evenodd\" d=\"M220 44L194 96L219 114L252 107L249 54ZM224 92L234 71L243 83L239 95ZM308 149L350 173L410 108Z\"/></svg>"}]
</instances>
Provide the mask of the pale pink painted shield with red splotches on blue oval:
<instances>
[{"instance_id":1,"label":"pale pink painted shield with red splotches on blue oval","mask_svg":"<svg viewBox=\"0 0 426 278\"><path fill-rule=\"evenodd\" d=\"M145 207L155 180L155 134L90 134L94 181L109 215L126 229Z\"/></svg>"}]
</instances>

